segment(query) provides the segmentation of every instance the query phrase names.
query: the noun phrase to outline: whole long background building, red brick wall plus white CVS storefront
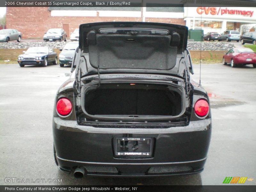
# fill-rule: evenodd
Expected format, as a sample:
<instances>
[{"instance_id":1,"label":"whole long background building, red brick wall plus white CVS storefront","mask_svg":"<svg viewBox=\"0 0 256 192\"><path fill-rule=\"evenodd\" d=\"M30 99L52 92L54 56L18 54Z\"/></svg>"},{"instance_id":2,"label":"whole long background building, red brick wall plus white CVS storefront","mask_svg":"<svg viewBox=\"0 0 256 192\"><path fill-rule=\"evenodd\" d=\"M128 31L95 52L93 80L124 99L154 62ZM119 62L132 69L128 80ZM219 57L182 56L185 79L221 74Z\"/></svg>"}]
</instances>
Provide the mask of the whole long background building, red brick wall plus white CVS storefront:
<instances>
[{"instance_id":1,"label":"whole long background building, red brick wall plus white CVS storefront","mask_svg":"<svg viewBox=\"0 0 256 192\"><path fill-rule=\"evenodd\" d=\"M6 28L15 28L24 38L43 37L49 28L63 28L68 37L83 23L144 21L186 25L222 33L256 23L256 7L7 7ZM255 24L256 26L256 24Z\"/></svg>"}]
</instances>

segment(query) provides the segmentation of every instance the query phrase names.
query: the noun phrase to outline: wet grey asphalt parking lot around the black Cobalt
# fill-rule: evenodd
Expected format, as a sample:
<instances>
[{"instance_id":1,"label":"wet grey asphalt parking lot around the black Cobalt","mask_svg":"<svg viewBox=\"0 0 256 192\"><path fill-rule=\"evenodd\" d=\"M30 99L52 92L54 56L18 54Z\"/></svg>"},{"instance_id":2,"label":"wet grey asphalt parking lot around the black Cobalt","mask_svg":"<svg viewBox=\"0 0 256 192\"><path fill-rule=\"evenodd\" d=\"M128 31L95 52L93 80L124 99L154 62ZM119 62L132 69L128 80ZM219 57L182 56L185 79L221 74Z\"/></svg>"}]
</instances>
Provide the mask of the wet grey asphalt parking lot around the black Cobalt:
<instances>
[{"instance_id":1,"label":"wet grey asphalt parking lot around the black Cobalt","mask_svg":"<svg viewBox=\"0 0 256 192\"><path fill-rule=\"evenodd\" d=\"M194 69L192 78L198 82L199 65ZM212 109L212 139L202 173L75 179L73 174L58 170L52 143L53 101L58 87L68 79L70 67L0 64L0 184L24 184L4 181L16 177L62 179L62 183L28 183L45 185L221 185L225 177L248 177L246 184L256 185L255 74L252 65L202 65L201 82L209 93Z\"/></svg>"}]
</instances>

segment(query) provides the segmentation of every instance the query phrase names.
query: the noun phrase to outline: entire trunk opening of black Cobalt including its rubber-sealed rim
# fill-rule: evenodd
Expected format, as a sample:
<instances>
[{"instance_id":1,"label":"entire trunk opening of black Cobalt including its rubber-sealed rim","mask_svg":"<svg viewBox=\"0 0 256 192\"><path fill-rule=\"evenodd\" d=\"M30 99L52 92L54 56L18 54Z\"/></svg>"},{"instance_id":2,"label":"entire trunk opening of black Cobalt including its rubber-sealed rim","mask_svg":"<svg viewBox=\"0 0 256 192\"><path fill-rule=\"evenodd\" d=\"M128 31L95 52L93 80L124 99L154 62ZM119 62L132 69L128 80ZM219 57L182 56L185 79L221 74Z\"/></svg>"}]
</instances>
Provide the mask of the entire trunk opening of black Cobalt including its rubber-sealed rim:
<instances>
[{"instance_id":1,"label":"entire trunk opening of black Cobalt including its rubber-sealed rim","mask_svg":"<svg viewBox=\"0 0 256 192\"><path fill-rule=\"evenodd\" d=\"M83 92L85 114L97 118L168 119L185 112L184 88L172 84L103 83Z\"/></svg>"}]
</instances>

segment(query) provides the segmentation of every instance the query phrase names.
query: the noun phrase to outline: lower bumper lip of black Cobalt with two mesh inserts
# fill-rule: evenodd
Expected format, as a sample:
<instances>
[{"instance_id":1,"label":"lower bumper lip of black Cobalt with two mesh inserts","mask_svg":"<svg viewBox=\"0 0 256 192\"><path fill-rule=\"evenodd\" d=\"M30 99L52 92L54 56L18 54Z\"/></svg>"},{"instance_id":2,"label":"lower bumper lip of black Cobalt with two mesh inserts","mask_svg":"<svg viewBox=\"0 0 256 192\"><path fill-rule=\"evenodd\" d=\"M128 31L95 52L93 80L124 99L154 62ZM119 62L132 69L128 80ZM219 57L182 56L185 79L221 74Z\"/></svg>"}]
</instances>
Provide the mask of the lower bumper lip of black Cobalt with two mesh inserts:
<instances>
[{"instance_id":1,"label":"lower bumper lip of black Cobalt with two mesh inserts","mask_svg":"<svg viewBox=\"0 0 256 192\"><path fill-rule=\"evenodd\" d=\"M71 172L70 168L76 164L76 166L83 166L86 170L86 175L91 176L145 177L202 172L206 158L197 161L171 163L94 163L62 159L57 156L57 161L60 170L67 173Z\"/></svg>"}]
</instances>

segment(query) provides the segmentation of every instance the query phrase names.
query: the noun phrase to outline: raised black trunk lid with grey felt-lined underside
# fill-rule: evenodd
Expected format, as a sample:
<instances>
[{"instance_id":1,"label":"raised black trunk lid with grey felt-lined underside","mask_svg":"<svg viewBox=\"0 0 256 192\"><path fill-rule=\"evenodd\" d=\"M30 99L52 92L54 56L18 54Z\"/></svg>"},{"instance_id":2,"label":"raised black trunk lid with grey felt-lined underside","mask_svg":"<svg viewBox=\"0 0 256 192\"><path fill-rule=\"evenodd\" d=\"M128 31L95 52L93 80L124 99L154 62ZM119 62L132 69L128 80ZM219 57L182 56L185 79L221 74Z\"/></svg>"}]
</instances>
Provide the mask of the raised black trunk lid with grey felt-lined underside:
<instances>
[{"instance_id":1,"label":"raised black trunk lid with grey felt-lined underside","mask_svg":"<svg viewBox=\"0 0 256 192\"><path fill-rule=\"evenodd\" d=\"M79 48L89 54L93 68L119 72L173 69L177 73L177 54L187 48L188 28L164 23L102 22L82 24L79 33Z\"/></svg>"}]
</instances>

